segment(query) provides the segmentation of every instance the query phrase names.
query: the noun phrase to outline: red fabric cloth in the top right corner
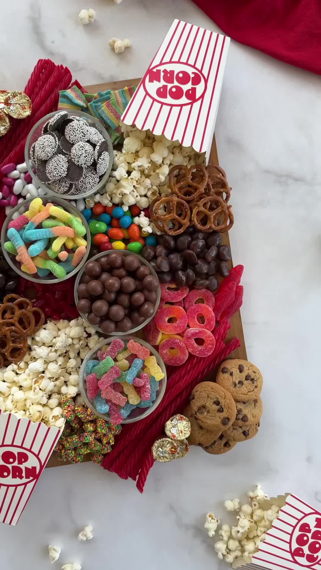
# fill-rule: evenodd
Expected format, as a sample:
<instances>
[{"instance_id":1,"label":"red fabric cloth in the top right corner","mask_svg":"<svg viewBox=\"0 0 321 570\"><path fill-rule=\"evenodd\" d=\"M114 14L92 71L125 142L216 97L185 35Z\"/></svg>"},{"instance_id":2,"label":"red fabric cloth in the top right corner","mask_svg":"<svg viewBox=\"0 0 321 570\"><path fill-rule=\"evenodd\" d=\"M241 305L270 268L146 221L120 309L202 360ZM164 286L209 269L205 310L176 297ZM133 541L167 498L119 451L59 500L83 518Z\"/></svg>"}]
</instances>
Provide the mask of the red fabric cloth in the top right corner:
<instances>
[{"instance_id":1,"label":"red fabric cloth in the top right corner","mask_svg":"<svg viewBox=\"0 0 321 570\"><path fill-rule=\"evenodd\" d=\"M320 0L193 0L232 39L321 74Z\"/></svg>"}]
</instances>

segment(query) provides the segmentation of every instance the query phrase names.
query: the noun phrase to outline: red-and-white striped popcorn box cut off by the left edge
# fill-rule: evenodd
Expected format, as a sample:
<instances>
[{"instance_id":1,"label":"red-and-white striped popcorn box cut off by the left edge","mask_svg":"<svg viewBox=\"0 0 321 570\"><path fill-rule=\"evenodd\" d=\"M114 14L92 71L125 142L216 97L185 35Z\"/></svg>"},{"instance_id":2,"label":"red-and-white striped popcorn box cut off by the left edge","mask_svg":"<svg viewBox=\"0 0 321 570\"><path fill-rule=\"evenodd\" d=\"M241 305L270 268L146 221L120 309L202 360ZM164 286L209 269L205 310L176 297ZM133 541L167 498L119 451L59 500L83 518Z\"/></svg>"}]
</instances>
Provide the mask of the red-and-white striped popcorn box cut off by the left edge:
<instances>
[{"instance_id":1,"label":"red-and-white striped popcorn box cut off by the left edge","mask_svg":"<svg viewBox=\"0 0 321 570\"><path fill-rule=\"evenodd\" d=\"M0 412L0 522L15 526L63 430Z\"/></svg>"}]
</instances>

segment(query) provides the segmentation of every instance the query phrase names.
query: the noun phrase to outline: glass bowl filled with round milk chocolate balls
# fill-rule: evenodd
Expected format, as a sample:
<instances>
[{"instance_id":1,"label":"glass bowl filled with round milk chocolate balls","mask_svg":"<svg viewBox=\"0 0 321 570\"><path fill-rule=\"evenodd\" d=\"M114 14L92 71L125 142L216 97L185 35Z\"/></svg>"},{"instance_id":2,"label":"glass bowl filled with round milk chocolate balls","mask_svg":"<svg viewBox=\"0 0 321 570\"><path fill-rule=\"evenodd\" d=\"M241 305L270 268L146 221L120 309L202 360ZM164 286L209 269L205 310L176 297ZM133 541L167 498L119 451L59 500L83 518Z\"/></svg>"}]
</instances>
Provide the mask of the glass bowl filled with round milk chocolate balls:
<instances>
[{"instance_id":1,"label":"glass bowl filled with round milk chocolate balls","mask_svg":"<svg viewBox=\"0 0 321 570\"><path fill-rule=\"evenodd\" d=\"M146 259L127 250L109 250L86 262L74 295L79 314L97 331L133 335L156 314L160 285Z\"/></svg>"}]
</instances>

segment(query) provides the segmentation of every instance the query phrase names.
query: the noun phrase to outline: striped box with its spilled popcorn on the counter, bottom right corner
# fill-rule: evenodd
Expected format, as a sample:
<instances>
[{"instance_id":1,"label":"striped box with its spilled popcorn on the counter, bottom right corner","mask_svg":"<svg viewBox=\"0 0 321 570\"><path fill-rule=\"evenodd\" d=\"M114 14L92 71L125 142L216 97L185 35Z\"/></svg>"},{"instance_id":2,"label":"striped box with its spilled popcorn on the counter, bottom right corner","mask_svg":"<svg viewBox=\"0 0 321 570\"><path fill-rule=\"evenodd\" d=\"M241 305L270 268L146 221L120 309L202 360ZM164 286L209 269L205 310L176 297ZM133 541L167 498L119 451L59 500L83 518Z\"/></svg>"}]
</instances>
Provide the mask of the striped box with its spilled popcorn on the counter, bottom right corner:
<instances>
[{"instance_id":1,"label":"striped box with its spilled popcorn on the counter, bottom right corner","mask_svg":"<svg viewBox=\"0 0 321 570\"><path fill-rule=\"evenodd\" d=\"M214 544L220 560L232 568L317 568L321 560L321 513L295 495L268 498L260 485L248 491L249 503L227 500L227 511L236 511L234 526L223 524ZM215 536L220 519L207 513L204 528ZM255 566L254 566L255 565Z\"/></svg>"}]
</instances>

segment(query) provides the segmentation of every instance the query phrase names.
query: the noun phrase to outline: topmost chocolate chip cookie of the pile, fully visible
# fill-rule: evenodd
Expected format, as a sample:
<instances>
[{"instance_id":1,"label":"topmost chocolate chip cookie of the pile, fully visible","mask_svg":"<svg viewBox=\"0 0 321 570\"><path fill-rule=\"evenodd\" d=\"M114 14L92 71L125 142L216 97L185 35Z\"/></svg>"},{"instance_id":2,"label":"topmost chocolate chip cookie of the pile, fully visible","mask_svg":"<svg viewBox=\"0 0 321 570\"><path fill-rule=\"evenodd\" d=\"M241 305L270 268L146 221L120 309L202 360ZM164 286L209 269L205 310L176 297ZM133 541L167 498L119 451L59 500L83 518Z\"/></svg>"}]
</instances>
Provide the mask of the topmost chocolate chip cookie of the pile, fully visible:
<instances>
[{"instance_id":1,"label":"topmost chocolate chip cookie of the pile, fully visible","mask_svg":"<svg viewBox=\"0 0 321 570\"><path fill-rule=\"evenodd\" d=\"M216 382L228 390L234 400L247 402L259 397L263 378L260 370L248 360L234 359L220 364Z\"/></svg>"}]
</instances>

